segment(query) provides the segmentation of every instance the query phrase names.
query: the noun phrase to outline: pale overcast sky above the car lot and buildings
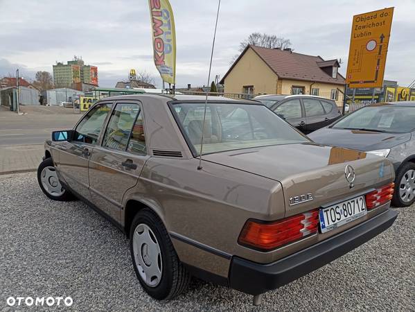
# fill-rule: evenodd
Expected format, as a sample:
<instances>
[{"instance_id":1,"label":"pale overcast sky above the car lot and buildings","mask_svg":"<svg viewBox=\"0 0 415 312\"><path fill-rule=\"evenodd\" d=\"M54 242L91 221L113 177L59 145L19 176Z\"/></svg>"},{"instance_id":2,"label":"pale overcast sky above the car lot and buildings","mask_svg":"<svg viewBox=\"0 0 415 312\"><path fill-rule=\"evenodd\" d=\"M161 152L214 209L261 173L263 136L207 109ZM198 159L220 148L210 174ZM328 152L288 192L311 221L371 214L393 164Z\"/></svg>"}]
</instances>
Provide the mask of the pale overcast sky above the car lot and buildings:
<instances>
[{"instance_id":1,"label":"pale overcast sky above the car lot and buildings","mask_svg":"<svg viewBox=\"0 0 415 312\"><path fill-rule=\"evenodd\" d=\"M170 0L177 36L177 87L206 85L217 1ZM291 40L298 53L341 58L347 66L353 15L395 6L385 79L415 79L415 1L222 0L212 76L221 77L250 33ZM0 76L34 78L56 61L82 56L98 66L100 87L114 87L131 68L161 87L152 60L148 1L0 0ZM212 79L211 79L212 80Z\"/></svg>"}]
</instances>

